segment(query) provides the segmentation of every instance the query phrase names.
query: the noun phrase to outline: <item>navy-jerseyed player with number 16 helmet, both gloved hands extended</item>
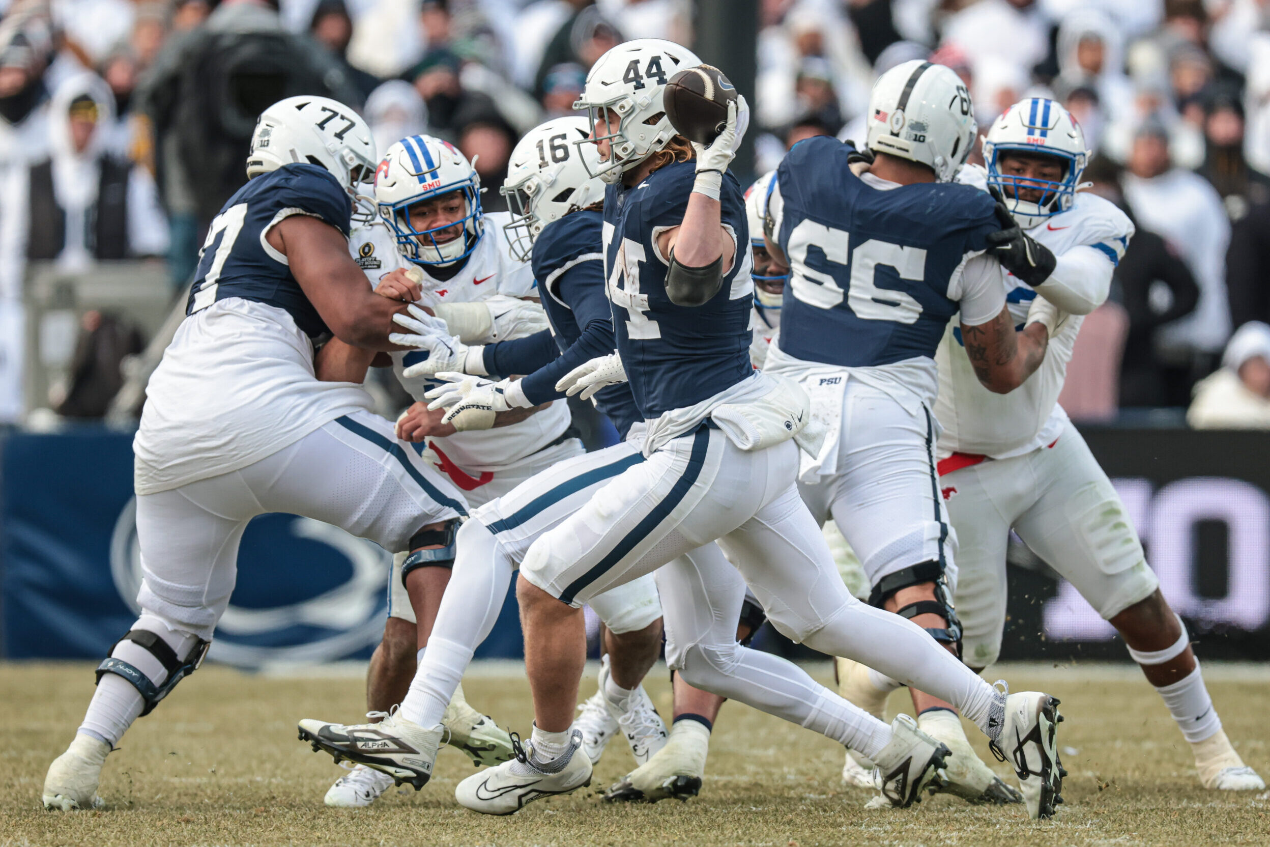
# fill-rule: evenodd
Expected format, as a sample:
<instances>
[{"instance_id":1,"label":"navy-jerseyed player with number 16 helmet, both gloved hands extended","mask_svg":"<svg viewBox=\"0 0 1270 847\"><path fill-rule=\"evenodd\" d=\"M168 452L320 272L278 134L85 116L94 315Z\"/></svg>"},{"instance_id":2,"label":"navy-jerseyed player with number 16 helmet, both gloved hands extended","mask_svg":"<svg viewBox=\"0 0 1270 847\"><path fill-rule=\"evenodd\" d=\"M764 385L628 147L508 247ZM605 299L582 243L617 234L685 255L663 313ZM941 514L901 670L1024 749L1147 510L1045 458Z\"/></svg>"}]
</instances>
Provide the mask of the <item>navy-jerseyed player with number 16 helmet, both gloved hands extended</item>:
<instances>
[{"instance_id":1,"label":"navy-jerseyed player with number 16 helmet, both gloved hands extended","mask_svg":"<svg viewBox=\"0 0 1270 847\"><path fill-rule=\"evenodd\" d=\"M587 133L588 123L580 117L558 118L531 131L512 154L511 171L504 185L516 215L509 220L507 216L489 216L491 226L505 227L508 241L500 243L511 245L516 260L530 259L532 248L532 270L542 281L538 291L542 292L542 303L555 330L554 339L547 331L481 347L466 345L457 339L434 339L428 345L431 356L404 368L406 383L427 381L436 385L438 371L446 377L452 376L447 371L453 368L480 375L530 371L530 376L525 378L498 383L480 381L490 391L493 386L498 386L500 395L509 397L499 409L499 415L523 413L549 404L563 405L565 395L555 389L560 376L597 353L613 349L612 321L603 295L599 262L599 215L589 208L602 201L603 184L588 177L580 160L584 154L594 156L593 149L578 149L573 145L574 140L585 138ZM446 314L443 307L438 311ZM423 316L418 310L415 315ZM544 340L550 348L545 348ZM404 358L409 361L415 354ZM446 389L442 387L441 392L444 394ZM470 396L465 409L470 409L476 400L476 395ZM596 403L615 422L622 436L638 418L638 410L625 386L601 391ZM438 408L437 418L446 415L439 403L433 405ZM429 414L423 404L417 409L422 409L418 413L420 415ZM458 409L446 415L443 422L436 423L448 432L456 432L457 428L458 434L479 442L512 429L490 429L497 417L494 413L462 414ZM442 439L442 443L444 441L448 438ZM570 453L579 455L580 447ZM565 472L563 469L572 464L560 457L552 458L552 469L547 476L558 480ZM489 488L494 489L493 485ZM481 507L483 514L490 513L498 508L498 503L483 500ZM472 650L488 635L502 608L513 569L519 561L518 556L508 555L505 549L491 546L491 540L493 536L479 531L476 524L458 535L457 564L444 598L438 598L439 611L432 627L429 648L420 651L415 682L409 686L409 693L401 692L405 698L399 700L403 716L419 721L423 726L448 724L442 720L439 711L429 714L429 705L434 702L432 693L446 687L448 698L448 692L456 691ZM583 704L578 717L578 726L587 742L585 752L592 761L598 761L608 740L620 730L630 742L636 761L646 762L667 739L665 726L641 686L660 651L662 610L657 587L652 577L635 580L593 598L592 607L605 622L608 653L601 668L599 690ZM485 615L474 615L475 610L484 610ZM444 704L442 709L446 709ZM420 717L415 717L417 715ZM375 726L373 731L391 731L390 725L366 725L342 728L340 734L345 738L349 734L357 737L358 733L367 731L368 726ZM323 734L319 729L312 734L320 745L331 749L325 743L330 737L329 731ZM415 784L420 786L427 780L428 771L410 771L403 767L404 762L399 758L373 753L358 756L367 764L384 768L382 775L380 771L375 773L389 784L392 777L418 780Z\"/></svg>"}]
</instances>

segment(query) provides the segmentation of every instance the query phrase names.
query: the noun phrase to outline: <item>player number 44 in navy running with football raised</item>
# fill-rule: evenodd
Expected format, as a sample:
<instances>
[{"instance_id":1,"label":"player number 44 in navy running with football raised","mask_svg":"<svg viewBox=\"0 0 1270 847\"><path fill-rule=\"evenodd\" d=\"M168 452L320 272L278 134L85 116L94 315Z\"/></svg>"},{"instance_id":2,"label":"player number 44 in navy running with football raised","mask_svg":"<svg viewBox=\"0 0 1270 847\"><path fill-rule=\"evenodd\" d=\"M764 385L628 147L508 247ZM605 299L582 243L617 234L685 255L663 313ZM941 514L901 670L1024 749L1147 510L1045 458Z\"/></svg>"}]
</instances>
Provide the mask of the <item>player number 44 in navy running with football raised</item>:
<instances>
[{"instance_id":1,"label":"player number 44 in navy running with football raised","mask_svg":"<svg viewBox=\"0 0 1270 847\"><path fill-rule=\"evenodd\" d=\"M597 175L610 183L605 265L618 353L575 368L558 387L591 392L627 381L648 429L635 461L610 470L577 512L525 552L518 598L533 735L514 762L469 777L456 796L470 809L509 814L589 781L591 762L577 756L580 733L570 731L584 660L579 607L654 570L668 663L692 684L876 752L879 785L895 805L908 805L940 778L946 748L911 719L886 726L796 667L735 644L740 597L734 583L719 589L715 565L733 579L735 570L721 556L715 564L700 559L716 538L779 630L933 683L1053 794L1053 698L1007 696L917 625L851 597L799 499L798 448L790 441L806 420L808 397L749 363L748 230L740 187L726 170L747 107L730 104L718 138L696 145L674 133L660 105L665 80L697 63L678 44L632 41L596 62L579 102L591 112L603 163ZM720 622L725 636L718 634Z\"/></svg>"}]
</instances>

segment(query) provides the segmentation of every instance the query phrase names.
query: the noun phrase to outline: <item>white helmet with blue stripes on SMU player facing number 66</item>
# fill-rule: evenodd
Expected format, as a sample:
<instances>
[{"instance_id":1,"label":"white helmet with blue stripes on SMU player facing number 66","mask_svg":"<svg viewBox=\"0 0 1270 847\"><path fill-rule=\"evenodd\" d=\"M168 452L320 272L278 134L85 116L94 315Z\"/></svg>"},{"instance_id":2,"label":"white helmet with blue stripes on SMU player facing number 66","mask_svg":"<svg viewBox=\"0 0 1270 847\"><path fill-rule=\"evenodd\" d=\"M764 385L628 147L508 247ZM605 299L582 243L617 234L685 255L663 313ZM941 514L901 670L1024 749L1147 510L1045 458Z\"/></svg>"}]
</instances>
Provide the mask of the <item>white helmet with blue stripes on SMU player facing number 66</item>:
<instances>
[{"instance_id":1,"label":"white helmet with blue stripes on SMU player facing number 66","mask_svg":"<svg viewBox=\"0 0 1270 847\"><path fill-rule=\"evenodd\" d=\"M1008 150L1059 159L1063 163L1062 182L1002 174L999 157ZM983 140L983 160L988 166L988 185L1001 192L1001 199L1019 226L1030 230L1045 218L1072 208L1090 151L1085 146L1081 124L1067 109L1054 100L1031 97L1015 103L993 121L988 137ZM1019 199L1020 188L1040 190L1040 202Z\"/></svg>"}]
</instances>

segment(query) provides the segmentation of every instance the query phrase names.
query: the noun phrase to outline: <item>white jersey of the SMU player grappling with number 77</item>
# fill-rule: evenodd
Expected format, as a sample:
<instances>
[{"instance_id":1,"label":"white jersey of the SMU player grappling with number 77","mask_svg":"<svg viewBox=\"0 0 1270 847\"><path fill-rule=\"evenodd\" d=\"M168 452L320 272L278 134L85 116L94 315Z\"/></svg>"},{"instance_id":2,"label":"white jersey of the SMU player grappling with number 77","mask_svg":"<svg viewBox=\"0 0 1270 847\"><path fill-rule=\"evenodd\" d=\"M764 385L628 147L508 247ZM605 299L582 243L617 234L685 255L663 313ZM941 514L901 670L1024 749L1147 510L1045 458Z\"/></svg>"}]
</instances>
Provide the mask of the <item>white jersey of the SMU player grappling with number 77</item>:
<instances>
[{"instance_id":1,"label":"white jersey of the SMU player grappling with number 77","mask_svg":"<svg viewBox=\"0 0 1270 847\"><path fill-rule=\"evenodd\" d=\"M434 306L444 302L476 302L497 296L533 297L533 270L528 263L517 262L507 250L503 237L503 223L507 212L485 216L485 235L467 258L462 270L450 279L436 279L423 270L424 296L422 303ZM389 227L377 221L353 229L349 236L349 250L353 259L362 265L372 286L380 277L395 268L408 267L405 258L398 253L396 239ZM513 335L514 337L514 335ZM408 380L403 371L414 364L414 352L392 353L392 372L415 400L424 400L424 391L439 385L434 381ZM437 451L442 466L452 464L464 471L481 474L485 471L516 467L527 457L538 452L569 428L573 418L564 400L556 400L550 406L530 415L521 423L497 429L458 432L444 438L429 438L429 446Z\"/></svg>"}]
</instances>

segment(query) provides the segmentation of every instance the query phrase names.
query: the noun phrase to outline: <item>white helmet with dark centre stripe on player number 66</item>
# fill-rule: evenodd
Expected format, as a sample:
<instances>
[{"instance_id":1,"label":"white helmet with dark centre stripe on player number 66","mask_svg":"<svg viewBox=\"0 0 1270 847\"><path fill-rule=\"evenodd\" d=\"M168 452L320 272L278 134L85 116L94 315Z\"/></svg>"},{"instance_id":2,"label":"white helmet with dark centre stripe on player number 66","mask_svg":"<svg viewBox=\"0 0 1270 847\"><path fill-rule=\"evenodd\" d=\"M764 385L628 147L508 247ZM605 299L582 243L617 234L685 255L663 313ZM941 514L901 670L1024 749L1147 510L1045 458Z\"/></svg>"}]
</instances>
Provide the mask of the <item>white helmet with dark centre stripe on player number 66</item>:
<instances>
[{"instance_id":1,"label":"white helmet with dark centre stripe on player number 66","mask_svg":"<svg viewBox=\"0 0 1270 847\"><path fill-rule=\"evenodd\" d=\"M878 77L869 95L865 146L928 165L950 182L974 145L970 91L951 67L919 58Z\"/></svg>"}]
</instances>

